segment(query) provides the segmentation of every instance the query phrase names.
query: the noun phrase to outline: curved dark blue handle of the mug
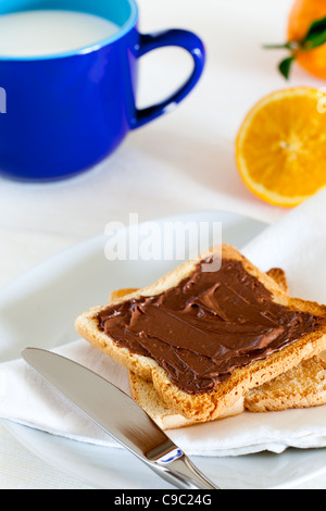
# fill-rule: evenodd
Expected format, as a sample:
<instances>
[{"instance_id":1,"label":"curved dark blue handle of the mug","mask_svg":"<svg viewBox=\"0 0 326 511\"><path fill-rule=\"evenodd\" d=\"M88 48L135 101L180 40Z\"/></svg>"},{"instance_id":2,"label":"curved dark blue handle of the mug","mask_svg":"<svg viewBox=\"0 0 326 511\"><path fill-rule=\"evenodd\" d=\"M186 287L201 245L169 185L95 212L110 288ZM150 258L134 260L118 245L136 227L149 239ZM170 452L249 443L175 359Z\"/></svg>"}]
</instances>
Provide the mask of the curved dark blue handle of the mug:
<instances>
[{"instance_id":1,"label":"curved dark blue handle of the mug","mask_svg":"<svg viewBox=\"0 0 326 511\"><path fill-rule=\"evenodd\" d=\"M177 46L187 50L193 59L193 71L187 82L170 98L141 110L136 109L135 117L131 122L131 129L170 112L195 87L199 80L205 64L205 50L202 41L192 32L173 28L156 34L140 34L139 45L136 49L136 57L140 58L156 48Z\"/></svg>"}]
</instances>

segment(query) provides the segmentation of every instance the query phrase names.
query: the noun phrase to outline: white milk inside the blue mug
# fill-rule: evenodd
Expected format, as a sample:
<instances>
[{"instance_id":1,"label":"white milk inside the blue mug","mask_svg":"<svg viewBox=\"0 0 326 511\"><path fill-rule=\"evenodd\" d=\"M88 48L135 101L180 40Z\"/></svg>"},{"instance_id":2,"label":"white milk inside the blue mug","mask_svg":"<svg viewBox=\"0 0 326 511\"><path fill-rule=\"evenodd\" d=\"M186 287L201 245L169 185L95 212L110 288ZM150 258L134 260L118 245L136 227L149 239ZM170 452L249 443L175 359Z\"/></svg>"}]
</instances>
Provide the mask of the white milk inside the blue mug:
<instances>
[{"instance_id":1,"label":"white milk inside the blue mug","mask_svg":"<svg viewBox=\"0 0 326 511\"><path fill-rule=\"evenodd\" d=\"M120 27L92 14L27 11L0 15L0 55L40 57L76 50L114 35Z\"/></svg>"}]
</instances>

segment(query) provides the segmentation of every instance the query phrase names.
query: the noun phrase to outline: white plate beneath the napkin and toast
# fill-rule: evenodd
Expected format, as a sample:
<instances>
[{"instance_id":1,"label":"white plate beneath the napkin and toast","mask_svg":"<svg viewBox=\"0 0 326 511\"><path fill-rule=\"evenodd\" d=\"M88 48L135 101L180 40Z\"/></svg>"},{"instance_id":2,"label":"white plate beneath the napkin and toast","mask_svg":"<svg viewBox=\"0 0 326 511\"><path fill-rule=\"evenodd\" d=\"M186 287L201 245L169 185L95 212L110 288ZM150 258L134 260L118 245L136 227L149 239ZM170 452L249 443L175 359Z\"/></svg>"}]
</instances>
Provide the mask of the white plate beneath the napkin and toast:
<instances>
[{"instance_id":1,"label":"white plate beneath the napkin and toast","mask_svg":"<svg viewBox=\"0 0 326 511\"><path fill-rule=\"evenodd\" d=\"M191 222L199 229L205 222L209 225L206 248L218 233L218 223L223 227L223 241L239 249L266 227L266 224L231 213L202 212L155 221L159 228L154 234L151 230L151 241L162 245L164 225L176 225L171 224L176 222L183 225ZM131 226L127 232L134 236L136 232L143 241L140 227ZM109 261L104 256L106 241L108 236L103 235L68 249L17 278L1 292L0 361L20 357L27 345L52 349L75 340L74 320L80 312L105 302L113 289L143 287L181 262ZM170 487L123 449L77 443L7 421L3 424L42 460L96 488ZM325 450L195 459L222 488L293 487L326 472L325 461Z\"/></svg>"}]
</instances>

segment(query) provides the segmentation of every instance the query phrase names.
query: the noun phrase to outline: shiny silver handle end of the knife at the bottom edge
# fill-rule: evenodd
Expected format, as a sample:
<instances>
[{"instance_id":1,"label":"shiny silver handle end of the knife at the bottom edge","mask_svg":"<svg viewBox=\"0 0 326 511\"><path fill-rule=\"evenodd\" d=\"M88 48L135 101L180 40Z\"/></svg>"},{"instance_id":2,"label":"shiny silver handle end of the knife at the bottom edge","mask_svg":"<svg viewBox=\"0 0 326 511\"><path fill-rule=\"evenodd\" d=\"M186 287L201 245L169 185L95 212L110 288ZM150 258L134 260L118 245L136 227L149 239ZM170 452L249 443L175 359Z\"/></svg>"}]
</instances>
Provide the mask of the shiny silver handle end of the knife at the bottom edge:
<instances>
[{"instance_id":1,"label":"shiny silver handle end of the knife at the bottom edge","mask_svg":"<svg viewBox=\"0 0 326 511\"><path fill-rule=\"evenodd\" d=\"M168 462L150 463L150 466L158 475L180 489L220 489L184 453Z\"/></svg>"}]
</instances>

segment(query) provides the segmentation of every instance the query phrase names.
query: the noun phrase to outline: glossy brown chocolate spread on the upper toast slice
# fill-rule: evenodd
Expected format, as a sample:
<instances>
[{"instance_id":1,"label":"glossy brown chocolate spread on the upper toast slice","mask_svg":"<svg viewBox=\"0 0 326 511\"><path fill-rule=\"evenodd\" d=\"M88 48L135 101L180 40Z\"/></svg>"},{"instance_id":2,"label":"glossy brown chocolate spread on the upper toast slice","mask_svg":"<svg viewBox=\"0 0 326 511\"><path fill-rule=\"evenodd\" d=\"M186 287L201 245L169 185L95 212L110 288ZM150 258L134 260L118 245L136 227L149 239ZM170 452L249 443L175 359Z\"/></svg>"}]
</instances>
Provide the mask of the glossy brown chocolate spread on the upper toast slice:
<instances>
[{"instance_id":1,"label":"glossy brown chocolate spread on the upper toast slice","mask_svg":"<svg viewBox=\"0 0 326 511\"><path fill-rule=\"evenodd\" d=\"M315 331L322 317L277 304L240 261L192 274L156 296L108 306L99 326L118 346L150 357L188 394L208 392L236 367Z\"/></svg>"}]
</instances>

